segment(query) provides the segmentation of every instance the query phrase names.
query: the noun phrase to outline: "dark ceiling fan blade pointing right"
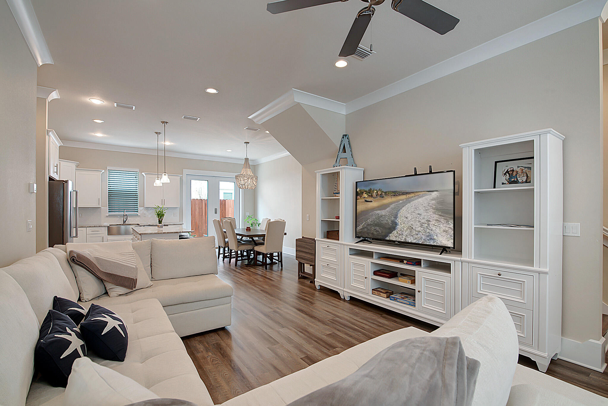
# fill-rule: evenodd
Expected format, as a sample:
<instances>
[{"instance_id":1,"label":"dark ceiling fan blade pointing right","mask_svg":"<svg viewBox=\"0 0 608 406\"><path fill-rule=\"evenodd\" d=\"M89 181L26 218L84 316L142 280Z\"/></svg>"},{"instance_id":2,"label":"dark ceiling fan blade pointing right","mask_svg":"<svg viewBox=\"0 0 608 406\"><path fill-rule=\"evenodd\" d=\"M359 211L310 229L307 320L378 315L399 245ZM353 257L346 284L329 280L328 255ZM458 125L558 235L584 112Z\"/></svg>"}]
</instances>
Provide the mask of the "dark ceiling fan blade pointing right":
<instances>
[{"instance_id":1,"label":"dark ceiling fan blade pointing right","mask_svg":"<svg viewBox=\"0 0 608 406\"><path fill-rule=\"evenodd\" d=\"M460 19L422 0L393 0L393 10L443 35L454 29Z\"/></svg>"}]
</instances>

